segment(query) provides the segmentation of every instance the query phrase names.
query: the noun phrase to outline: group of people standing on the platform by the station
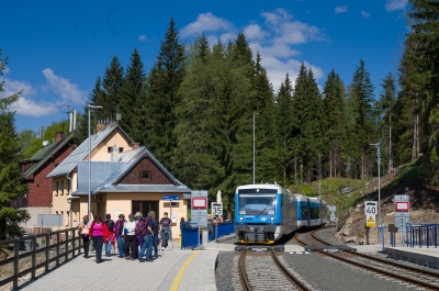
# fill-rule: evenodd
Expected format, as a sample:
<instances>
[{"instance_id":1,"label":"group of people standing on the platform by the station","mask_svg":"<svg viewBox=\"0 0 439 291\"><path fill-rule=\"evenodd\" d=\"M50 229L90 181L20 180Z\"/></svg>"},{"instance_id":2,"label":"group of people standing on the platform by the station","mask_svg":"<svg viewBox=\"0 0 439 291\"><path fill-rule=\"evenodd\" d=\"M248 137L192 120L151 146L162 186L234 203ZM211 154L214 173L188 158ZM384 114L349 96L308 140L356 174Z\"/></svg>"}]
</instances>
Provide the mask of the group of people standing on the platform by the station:
<instances>
[{"instance_id":1,"label":"group of people standing on the platform by the station","mask_svg":"<svg viewBox=\"0 0 439 291\"><path fill-rule=\"evenodd\" d=\"M158 257L160 244L158 234L160 233L164 250L168 247L168 240L172 239L171 220L168 217L168 212L164 213L160 222L156 220L154 211L149 211L146 217L140 212L130 214L127 221L124 214L120 214L116 222L111 220L110 214L105 215L104 221L99 214L94 215L93 221L85 215L78 223L78 228L83 242L83 257L89 258L90 240L92 240L97 264L102 261L103 246L105 246L105 256L110 257L115 244L117 244L120 258L140 262L153 261Z\"/></svg>"}]
</instances>

